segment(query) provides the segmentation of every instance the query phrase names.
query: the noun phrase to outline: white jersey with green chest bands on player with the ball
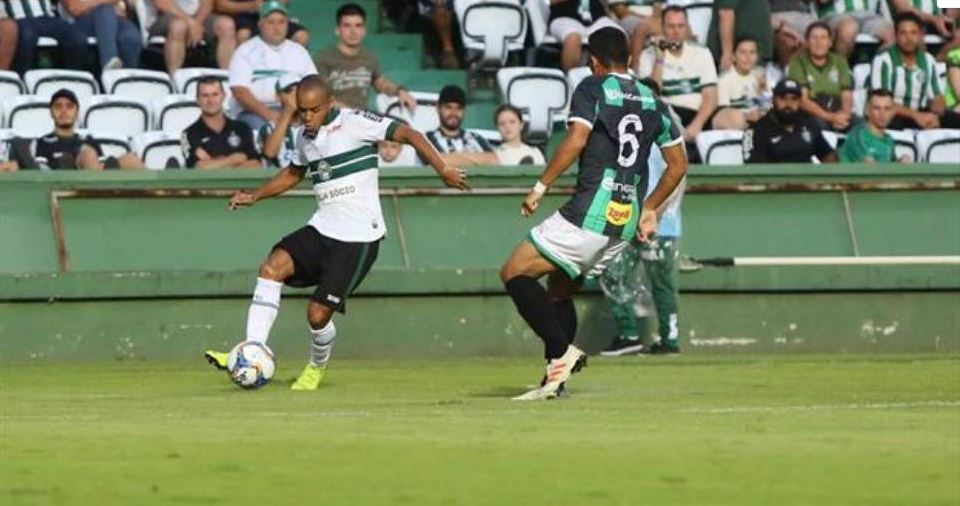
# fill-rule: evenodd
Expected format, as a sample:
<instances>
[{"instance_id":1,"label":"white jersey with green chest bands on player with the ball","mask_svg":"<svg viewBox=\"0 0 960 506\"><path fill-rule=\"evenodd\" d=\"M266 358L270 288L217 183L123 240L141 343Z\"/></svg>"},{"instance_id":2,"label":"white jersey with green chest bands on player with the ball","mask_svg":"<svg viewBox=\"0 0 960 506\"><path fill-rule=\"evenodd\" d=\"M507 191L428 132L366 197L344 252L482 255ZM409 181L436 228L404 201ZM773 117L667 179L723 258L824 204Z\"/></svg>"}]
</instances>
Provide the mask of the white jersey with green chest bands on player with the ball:
<instances>
[{"instance_id":1,"label":"white jersey with green chest bands on player with the ball","mask_svg":"<svg viewBox=\"0 0 960 506\"><path fill-rule=\"evenodd\" d=\"M371 112L331 109L315 136L300 130L291 165L305 168L313 182L317 212L310 226L344 242L383 237L376 142L392 139L398 126Z\"/></svg>"}]
</instances>

